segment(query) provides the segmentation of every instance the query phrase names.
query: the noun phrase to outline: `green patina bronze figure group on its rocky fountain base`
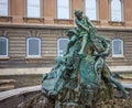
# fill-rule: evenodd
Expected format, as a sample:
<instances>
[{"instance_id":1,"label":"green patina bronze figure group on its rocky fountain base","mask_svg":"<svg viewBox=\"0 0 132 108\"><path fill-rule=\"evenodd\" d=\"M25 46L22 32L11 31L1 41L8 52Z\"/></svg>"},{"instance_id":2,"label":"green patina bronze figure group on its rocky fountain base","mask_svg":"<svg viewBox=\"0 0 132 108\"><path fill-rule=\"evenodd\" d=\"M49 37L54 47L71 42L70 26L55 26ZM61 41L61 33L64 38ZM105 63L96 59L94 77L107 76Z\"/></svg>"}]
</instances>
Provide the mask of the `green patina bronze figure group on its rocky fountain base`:
<instances>
[{"instance_id":1,"label":"green patina bronze figure group on its rocky fountain base","mask_svg":"<svg viewBox=\"0 0 132 108\"><path fill-rule=\"evenodd\" d=\"M106 57L111 41L96 33L96 28L82 11L75 10L77 28L66 31L69 37L66 54L55 58L55 65L43 75L42 91L55 99L55 108L94 108L113 99L113 85L127 97L128 91L113 78Z\"/></svg>"}]
</instances>

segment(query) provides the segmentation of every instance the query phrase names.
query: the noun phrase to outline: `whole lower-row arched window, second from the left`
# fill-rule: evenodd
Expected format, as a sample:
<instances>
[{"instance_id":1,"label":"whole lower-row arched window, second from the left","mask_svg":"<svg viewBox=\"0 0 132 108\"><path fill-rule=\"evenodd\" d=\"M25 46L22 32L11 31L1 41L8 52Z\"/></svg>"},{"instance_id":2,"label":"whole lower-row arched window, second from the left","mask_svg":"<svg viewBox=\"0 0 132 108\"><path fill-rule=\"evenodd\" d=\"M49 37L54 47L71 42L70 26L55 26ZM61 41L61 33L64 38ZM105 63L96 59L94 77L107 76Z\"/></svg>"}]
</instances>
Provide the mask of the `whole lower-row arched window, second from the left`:
<instances>
[{"instance_id":1,"label":"whole lower-row arched window, second from the left","mask_svg":"<svg viewBox=\"0 0 132 108\"><path fill-rule=\"evenodd\" d=\"M37 37L30 37L26 40L26 55L28 57L41 57L41 40Z\"/></svg>"}]
</instances>

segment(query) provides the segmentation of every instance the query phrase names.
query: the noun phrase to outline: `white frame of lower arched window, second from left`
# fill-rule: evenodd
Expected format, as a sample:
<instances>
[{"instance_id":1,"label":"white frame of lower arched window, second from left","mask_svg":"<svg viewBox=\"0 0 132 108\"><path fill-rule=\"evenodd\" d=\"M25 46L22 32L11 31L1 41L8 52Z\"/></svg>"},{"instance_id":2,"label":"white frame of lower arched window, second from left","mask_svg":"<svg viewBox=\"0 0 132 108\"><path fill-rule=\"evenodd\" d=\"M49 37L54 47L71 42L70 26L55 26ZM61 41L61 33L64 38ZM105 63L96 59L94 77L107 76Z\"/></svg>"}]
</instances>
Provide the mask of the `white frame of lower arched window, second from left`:
<instances>
[{"instance_id":1,"label":"white frame of lower arched window, second from left","mask_svg":"<svg viewBox=\"0 0 132 108\"><path fill-rule=\"evenodd\" d=\"M30 40L37 40L38 41L38 55L30 55L29 53L29 41ZM41 39L40 37L28 37L26 39L26 57L41 57L42 55L41 55Z\"/></svg>"}]
</instances>

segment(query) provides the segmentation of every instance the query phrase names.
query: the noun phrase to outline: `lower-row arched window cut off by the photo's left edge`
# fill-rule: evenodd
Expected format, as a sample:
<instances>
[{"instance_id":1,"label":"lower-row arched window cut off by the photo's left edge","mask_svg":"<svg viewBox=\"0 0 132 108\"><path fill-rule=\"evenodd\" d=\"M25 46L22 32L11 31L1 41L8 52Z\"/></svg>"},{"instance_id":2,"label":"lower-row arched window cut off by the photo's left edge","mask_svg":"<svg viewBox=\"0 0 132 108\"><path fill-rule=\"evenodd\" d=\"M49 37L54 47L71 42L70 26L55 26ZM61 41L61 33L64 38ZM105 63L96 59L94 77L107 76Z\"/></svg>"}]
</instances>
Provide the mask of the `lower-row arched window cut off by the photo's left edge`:
<instances>
[{"instance_id":1,"label":"lower-row arched window cut off by the photo's left edge","mask_svg":"<svg viewBox=\"0 0 132 108\"><path fill-rule=\"evenodd\" d=\"M0 37L0 57L8 57L8 39Z\"/></svg>"}]
</instances>

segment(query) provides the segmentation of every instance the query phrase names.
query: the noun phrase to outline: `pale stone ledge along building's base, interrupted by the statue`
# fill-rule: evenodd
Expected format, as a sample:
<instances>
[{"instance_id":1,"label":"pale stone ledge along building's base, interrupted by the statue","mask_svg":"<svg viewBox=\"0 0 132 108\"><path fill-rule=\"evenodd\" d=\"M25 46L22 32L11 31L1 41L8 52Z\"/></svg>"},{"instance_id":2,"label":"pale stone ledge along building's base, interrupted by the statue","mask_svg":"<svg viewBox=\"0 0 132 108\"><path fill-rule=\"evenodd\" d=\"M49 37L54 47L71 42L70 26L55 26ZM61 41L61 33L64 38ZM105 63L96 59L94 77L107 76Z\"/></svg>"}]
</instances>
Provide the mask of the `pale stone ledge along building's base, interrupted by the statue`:
<instances>
[{"instance_id":1,"label":"pale stone ledge along building's base, interrupted by the statue","mask_svg":"<svg viewBox=\"0 0 132 108\"><path fill-rule=\"evenodd\" d=\"M132 72L132 66L109 66L111 72ZM0 68L0 75L32 75L51 72L52 67Z\"/></svg>"}]
</instances>

